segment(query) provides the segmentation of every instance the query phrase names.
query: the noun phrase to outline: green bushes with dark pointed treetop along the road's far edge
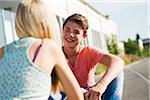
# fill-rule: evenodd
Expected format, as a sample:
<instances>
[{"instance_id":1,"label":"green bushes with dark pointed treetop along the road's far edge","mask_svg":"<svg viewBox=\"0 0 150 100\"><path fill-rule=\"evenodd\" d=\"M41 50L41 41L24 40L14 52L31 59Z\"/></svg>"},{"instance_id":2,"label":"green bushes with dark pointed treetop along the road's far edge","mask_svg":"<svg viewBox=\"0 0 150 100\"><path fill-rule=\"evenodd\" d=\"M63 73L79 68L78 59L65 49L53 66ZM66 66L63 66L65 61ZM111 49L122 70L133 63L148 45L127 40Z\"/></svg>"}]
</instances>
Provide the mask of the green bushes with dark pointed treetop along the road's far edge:
<instances>
[{"instance_id":1,"label":"green bushes with dark pointed treetop along the road's far edge","mask_svg":"<svg viewBox=\"0 0 150 100\"><path fill-rule=\"evenodd\" d=\"M137 33L135 40L128 39L127 42L124 42L125 55L123 56L123 59L125 64L150 56L150 48L141 48L140 39L140 35Z\"/></svg>"}]
</instances>

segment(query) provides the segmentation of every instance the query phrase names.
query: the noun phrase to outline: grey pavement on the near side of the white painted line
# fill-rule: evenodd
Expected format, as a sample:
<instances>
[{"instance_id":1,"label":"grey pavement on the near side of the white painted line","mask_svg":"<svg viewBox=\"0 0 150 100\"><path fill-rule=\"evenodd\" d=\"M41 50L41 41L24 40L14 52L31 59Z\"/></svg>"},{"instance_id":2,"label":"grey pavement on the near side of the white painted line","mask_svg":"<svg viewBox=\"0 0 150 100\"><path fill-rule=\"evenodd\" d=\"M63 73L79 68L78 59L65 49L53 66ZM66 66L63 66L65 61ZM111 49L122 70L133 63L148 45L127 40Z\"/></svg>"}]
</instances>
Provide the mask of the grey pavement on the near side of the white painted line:
<instances>
[{"instance_id":1,"label":"grey pavement on the near side of the white painted line","mask_svg":"<svg viewBox=\"0 0 150 100\"><path fill-rule=\"evenodd\" d=\"M149 100L149 85L142 78L125 69L123 100Z\"/></svg>"}]
</instances>

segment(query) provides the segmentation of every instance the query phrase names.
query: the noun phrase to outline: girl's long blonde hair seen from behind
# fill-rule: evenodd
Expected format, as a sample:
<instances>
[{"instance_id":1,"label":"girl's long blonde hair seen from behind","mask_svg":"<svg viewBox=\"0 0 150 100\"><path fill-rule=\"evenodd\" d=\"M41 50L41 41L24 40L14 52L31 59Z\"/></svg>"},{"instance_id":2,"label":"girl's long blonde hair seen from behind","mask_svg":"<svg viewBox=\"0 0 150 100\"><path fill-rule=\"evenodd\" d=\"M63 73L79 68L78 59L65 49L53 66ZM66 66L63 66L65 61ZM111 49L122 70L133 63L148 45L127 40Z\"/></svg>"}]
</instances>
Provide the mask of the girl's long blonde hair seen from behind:
<instances>
[{"instance_id":1,"label":"girl's long blonde hair seen from behind","mask_svg":"<svg viewBox=\"0 0 150 100\"><path fill-rule=\"evenodd\" d=\"M54 38L56 17L42 0L21 0L15 18L19 38Z\"/></svg>"}]
</instances>

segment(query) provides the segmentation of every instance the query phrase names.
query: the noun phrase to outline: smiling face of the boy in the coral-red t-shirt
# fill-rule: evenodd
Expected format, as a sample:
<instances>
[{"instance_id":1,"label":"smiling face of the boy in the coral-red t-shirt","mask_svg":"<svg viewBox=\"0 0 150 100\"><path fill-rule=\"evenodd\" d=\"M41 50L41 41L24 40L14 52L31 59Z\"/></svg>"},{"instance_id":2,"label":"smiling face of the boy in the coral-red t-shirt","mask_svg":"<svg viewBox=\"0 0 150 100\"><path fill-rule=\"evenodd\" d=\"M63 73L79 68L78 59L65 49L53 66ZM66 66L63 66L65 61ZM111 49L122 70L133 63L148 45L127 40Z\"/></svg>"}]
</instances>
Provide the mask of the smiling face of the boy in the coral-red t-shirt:
<instances>
[{"instance_id":1,"label":"smiling face of the boy in the coral-red t-shirt","mask_svg":"<svg viewBox=\"0 0 150 100\"><path fill-rule=\"evenodd\" d=\"M68 21L63 29L64 45L76 47L85 38L83 29L73 21Z\"/></svg>"}]
</instances>

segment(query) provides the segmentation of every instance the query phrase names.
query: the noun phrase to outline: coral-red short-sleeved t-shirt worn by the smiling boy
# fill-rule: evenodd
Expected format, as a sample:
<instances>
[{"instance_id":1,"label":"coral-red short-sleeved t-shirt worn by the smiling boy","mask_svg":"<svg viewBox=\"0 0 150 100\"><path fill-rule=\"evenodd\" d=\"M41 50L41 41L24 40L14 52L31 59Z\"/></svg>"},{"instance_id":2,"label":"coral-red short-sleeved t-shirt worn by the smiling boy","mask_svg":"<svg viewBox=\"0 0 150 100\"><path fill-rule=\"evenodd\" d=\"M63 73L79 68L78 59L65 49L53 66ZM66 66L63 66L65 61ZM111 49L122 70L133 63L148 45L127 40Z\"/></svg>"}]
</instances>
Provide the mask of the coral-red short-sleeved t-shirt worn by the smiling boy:
<instances>
[{"instance_id":1,"label":"coral-red short-sleeved t-shirt worn by the smiling boy","mask_svg":"<svg viewBox=\"0 0 150 100\"><path fill-rule=\"evenodd\" d=\"M95 84L95 65L101 63L100 59L104 54L105 52L98 48L86 46L77 55L74 66L68 61L68 64L81 87L93 86Z\"/></svg>"}]
</instances>

